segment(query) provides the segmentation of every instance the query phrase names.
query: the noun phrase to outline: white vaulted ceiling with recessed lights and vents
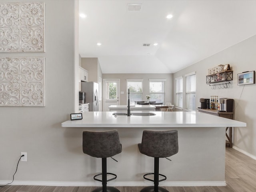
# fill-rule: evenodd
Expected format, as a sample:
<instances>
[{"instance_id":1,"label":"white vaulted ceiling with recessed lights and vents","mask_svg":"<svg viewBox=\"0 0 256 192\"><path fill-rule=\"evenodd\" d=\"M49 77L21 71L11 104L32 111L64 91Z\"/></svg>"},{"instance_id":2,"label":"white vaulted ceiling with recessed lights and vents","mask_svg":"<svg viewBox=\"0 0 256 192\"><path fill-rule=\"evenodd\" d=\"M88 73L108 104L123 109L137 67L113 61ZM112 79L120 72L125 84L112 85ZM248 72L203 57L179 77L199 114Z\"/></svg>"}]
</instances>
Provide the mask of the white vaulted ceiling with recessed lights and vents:
<instances>
[{"instance_id":1,"label":"white vaulted ceiling with recessed lights and vents","mask_svg":"<svg viewBox=\"0 0 256 192\"><path fill-rule=\"evenodd\" d=\"M256 0L80 0L79 12L80 56L103 73L174 73L256 34Z\"/></svg>"}]
</instances>

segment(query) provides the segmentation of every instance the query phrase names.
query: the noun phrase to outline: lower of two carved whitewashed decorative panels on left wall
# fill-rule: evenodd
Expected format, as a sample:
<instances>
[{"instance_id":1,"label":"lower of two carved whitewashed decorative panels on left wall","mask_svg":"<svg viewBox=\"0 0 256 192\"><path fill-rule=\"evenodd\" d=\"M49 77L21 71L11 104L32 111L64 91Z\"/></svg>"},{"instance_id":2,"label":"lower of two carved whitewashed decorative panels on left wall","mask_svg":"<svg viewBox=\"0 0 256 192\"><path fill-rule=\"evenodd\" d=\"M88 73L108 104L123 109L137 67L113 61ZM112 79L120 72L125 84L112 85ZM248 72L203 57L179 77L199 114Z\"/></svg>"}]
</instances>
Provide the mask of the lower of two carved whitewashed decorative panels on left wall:
<instances>
[{"instance_id":1,"label":"lower of two carved whitewashed decorative panels on left wall","mask_svg":"<svg viewBox=\"0 0 256 192\"><path fill-rule=\"evenodd\" d=\"M45 106L44 57L0 58L0 106Z\"/></svg>"}]
</instances>

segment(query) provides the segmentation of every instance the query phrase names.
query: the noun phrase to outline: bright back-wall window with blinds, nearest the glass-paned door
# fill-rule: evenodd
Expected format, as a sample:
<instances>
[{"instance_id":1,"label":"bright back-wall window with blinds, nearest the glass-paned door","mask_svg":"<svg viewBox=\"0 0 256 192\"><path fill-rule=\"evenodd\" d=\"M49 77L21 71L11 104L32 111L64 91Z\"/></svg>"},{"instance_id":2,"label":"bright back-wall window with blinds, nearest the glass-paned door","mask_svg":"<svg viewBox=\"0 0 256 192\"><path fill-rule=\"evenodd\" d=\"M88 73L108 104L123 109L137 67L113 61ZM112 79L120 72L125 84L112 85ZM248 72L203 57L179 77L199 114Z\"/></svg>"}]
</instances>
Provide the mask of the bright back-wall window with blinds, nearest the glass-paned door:
<instances>
[{"instance_id":1,"label":"bright back-wall window with blinds, nearest the glass-paned door","mask_svg":"<svg viewBox=\"0 0 256 192\"><path fill-rule=\"evenodd\" d=\"M130 102L142 101L142 87L142 79L127 79L127 93L128 89L130 89Z\"/></svg>"}]
</instances>

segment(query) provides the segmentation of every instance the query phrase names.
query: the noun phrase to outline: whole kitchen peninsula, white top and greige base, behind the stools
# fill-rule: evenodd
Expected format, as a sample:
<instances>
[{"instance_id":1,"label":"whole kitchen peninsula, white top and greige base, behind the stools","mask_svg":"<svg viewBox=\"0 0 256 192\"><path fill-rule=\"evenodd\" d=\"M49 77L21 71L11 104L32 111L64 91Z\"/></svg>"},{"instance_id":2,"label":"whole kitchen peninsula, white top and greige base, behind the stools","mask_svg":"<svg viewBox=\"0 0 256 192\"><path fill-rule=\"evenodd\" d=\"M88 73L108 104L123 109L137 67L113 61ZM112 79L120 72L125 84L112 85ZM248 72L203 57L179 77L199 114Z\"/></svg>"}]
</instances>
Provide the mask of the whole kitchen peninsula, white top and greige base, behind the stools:
<instances>
[{"instance_id":1,"label":"whole kitchen peninsula, white top and greige base, behind the stools","mask_svg":"<svg viewBox=\"0 0 256 192\"><path fill-rule=\"evenodd\" d=\"M154 158L141 154L143 130L178 130L179 152L169 160L160 158L159 173L167 176L160 186L225 186L225 128L245 127L239 122L200 112L153 112L156 116L114 116L113 112L83 112L82 120L62 123L64 137L75 161L81 161L79 182L100 186L93 175L101 172L101 159L82 152L84 130L118 130L122 153L108 159L108 171L117 179L108 186L152 186L143 175L154 171Z\"/></svg>"}]
</instances>

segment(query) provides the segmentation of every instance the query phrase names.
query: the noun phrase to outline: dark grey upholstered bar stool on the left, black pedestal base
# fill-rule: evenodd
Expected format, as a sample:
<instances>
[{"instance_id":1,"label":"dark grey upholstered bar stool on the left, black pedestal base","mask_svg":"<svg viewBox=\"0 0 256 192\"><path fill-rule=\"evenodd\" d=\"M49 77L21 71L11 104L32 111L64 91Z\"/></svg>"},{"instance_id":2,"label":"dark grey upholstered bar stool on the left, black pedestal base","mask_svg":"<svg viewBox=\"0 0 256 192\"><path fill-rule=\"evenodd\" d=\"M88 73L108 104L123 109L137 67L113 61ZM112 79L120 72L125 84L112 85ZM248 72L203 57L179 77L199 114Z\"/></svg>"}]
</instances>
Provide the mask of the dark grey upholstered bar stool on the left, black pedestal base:
<instances>
[{"instance_id":1,"label":"dark grey upholstered bar stool on the left, black pedestal base","mask_svg":"<svg viewBox=\"0 0 256 192\"><path fill-rule=\"evenodd\" d=\"M102 182L102 188L96 188L93 192L120 192L114 187L107 187L107 182L117 177L116 174L107 173L107 158L112 158L112 156L122 152L122 145L120 144L117 130L84 131L83 152L92 157L102 158L102 173L93 177L94 180ZM117 160L115 161L117 162ZM114 178L107 180L107 174L113 175ZM102 180L96 179L100 175L102 175Z\"/></svg>"}]
</instances>

